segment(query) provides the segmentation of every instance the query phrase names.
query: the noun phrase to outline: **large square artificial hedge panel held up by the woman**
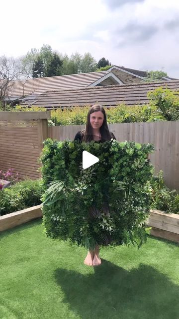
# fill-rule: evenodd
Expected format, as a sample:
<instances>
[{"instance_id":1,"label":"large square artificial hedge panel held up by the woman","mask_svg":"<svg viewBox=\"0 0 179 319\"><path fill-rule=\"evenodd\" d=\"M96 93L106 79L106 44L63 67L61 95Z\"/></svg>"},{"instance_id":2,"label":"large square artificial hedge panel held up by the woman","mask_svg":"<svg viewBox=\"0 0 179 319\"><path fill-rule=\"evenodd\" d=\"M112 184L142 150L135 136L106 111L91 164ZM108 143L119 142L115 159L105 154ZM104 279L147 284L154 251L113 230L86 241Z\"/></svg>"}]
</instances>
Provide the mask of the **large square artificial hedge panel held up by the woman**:
<instances>
[{"instance_id":1,"label":"large square artificial hedge panel held up by the woman","mask_svg":"<svg viewBox=\"0 0 179 319\"><path fill-rule=\"evenodd\" d=\"M147 239L153 166L151 144L47 139L41 156L43 224L47 236L94 249ZM83 151L99 158L82 167Z\"/></svg>"}]
</instances>

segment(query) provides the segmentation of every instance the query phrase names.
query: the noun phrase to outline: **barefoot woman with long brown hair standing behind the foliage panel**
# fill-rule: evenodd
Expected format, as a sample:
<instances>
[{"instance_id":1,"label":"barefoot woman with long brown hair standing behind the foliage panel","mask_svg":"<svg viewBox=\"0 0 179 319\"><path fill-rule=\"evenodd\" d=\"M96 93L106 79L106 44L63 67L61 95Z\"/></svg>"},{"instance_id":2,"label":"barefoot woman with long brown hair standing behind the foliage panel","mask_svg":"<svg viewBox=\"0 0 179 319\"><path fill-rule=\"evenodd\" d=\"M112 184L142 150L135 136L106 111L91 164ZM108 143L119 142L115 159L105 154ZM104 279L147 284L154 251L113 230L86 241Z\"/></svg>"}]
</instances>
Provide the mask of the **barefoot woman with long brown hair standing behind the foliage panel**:
<instances>
[{"instance_id":1,"label":"barefoot woman with long brown hair standing behind the foliage panel","mask_svg":"<svg viewBox=\"0 0 179 319\"><path fill-rule=\"evenodd\" d=\"M74 140L81 142L105 142L110 141L110 139L115 139L112 132L109 132L106 114L104 108L100 104L94 104L89 109L87 115L86 129L79 131ZM90 250L84 263L88 266L98 266L101 264L101 259L99 258L99 246L95 247L95 250Z\"/></svg>"}]
</instances>

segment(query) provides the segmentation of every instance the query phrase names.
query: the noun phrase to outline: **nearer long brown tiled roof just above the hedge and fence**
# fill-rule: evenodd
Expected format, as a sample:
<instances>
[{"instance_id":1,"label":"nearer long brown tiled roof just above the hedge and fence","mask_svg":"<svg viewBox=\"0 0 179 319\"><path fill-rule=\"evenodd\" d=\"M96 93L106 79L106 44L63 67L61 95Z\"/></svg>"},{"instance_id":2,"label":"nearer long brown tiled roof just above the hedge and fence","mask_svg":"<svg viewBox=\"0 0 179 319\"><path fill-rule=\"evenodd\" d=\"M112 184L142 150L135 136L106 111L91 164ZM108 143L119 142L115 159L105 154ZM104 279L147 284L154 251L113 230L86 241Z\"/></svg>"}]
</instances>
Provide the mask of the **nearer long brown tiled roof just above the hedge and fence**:
<instances>
[{"instance_id":1,"label":"nearer long brown tiled roof just above the hedge and fence","mask_svg":"<svg viewBox=\"0 0 179 319\"><path fill-rule=\"evenodd\" d=\"M103 106L147 104L147 92L158 87L179 91L179 80L153 83L135 83L88 87L84 89L66 89L45 92L36 96L35 100L26 100L23 105L36 105L48 109L72 106L91 106L98 102Z\"/></svg>"}]
</instances>

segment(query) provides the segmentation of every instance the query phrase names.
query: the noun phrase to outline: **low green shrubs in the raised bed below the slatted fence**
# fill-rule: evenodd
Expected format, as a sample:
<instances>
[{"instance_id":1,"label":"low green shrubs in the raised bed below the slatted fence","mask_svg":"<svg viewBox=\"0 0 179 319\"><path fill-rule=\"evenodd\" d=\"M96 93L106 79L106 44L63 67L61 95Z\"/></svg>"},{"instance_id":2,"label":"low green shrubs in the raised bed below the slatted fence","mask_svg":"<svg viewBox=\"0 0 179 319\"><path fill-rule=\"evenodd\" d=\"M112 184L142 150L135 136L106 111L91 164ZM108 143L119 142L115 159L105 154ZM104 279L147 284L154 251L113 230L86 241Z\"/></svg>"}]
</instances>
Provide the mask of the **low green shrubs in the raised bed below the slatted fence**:
<instances>
[{"instance_id":1,"label":"low green shrubs in the raised bed below the slatted fence","mask_svg":"<svg viewBox=\"0 0 179 319\"><path fill-rule=\"evenodd\" d=\"M39 205L44 192L41 179L26 179L0 191L0 215Z\"/></svg>"}]
</instances>

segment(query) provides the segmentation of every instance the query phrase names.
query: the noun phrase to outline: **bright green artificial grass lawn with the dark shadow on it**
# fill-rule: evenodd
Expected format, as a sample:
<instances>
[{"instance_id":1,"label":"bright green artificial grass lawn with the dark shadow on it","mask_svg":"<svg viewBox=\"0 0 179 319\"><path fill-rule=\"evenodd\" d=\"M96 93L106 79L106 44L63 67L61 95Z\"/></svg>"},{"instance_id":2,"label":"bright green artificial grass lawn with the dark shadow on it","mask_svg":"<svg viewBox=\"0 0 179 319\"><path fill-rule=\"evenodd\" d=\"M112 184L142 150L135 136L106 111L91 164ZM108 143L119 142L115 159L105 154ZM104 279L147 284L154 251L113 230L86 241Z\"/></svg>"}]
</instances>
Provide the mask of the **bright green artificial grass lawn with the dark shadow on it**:
<instances>
[{"instance_id":1,"label":"bright green artificial grass lawn with the dark shadow on it","mask_svg":"<svg viewBox=\"0 0 179 319\"><path fill-rule=\"evenodd\" d=\"M0 319L179 319L179 245L100 251L46 237L38 219L0 234Z\"/></svg>"}]
</instances>

